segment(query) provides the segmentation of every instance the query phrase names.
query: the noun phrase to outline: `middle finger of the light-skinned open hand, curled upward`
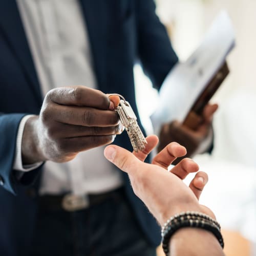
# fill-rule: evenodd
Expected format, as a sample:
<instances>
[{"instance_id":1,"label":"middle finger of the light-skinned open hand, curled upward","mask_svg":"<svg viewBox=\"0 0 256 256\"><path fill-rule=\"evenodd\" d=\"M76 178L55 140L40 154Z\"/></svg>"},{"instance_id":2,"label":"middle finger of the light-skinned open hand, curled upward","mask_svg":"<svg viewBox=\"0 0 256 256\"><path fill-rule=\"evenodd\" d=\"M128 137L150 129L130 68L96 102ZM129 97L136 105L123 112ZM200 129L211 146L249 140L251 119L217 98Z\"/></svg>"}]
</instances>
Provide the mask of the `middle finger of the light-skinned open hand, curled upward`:
<instances>
[{"instance_id":1,"label":"middle finger of the light-skinned open hand, curled upward","mask_svg":"<svg viewBox=\"0 0 256 256\"><path fill-rule=\"evenodd\" d=\"M177 157L185 156L186 153L184 146L171 142L153 158L152 163L167 169Z\"/></svg>"}]
</instances>

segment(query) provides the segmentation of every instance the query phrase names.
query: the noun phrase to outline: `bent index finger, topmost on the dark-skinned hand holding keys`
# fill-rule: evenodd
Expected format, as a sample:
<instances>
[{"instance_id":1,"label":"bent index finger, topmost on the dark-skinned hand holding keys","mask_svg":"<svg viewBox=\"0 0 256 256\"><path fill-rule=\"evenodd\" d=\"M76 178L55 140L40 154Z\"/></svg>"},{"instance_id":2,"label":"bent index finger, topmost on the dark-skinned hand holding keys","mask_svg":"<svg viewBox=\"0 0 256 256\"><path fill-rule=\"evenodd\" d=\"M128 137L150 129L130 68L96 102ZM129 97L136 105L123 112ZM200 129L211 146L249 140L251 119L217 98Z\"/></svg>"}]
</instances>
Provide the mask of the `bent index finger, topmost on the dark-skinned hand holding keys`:
<instances>
[{"instance_id":1,"label":"bent index finger, topmost on the dark-skinned hand holding keys","mask_svg":"<svg viewBox=\"0 0 256 256\"><path fill-rule=\"evenodd\" d=\"M101 110L110 108L110 99L106 94L85 86L56 88L49 91L46 98L61 105L91 106Z\"/></svg>"}]
</instances>

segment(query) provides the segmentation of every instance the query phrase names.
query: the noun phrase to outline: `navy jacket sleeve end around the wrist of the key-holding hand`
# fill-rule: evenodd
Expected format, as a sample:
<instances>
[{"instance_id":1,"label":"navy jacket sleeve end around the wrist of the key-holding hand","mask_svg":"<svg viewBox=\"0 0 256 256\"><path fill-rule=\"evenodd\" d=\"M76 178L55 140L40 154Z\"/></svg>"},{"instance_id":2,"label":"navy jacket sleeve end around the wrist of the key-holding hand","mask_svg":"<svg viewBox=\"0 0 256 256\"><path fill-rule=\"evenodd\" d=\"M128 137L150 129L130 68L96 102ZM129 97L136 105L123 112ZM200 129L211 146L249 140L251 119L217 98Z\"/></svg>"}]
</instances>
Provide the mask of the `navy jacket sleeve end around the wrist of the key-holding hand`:
<instances>
[{"instance_id":1,"label":"navy jacket sleeve end around the wrist of the key-holding hand","mask_svg":"<svg viewBox=\"0 0 256 256\"><path fill-rule=\"evenodd\" d=\"M0 113L0 179L2 186L12 194L16 194L16 186L33 183L40 169L39 167L18 178L12 168L18 126L25 115Z\"/></svg>"}]
</instances>

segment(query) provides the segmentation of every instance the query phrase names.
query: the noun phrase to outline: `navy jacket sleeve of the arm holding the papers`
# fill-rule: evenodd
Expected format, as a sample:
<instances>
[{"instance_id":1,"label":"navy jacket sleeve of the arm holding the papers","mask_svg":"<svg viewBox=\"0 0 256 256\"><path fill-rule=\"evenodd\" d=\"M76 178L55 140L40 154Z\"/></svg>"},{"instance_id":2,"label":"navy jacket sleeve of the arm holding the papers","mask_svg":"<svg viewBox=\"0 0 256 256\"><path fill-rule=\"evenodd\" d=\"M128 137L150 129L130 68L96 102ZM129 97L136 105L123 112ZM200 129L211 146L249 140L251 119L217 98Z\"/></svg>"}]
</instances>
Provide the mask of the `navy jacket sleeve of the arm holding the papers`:
<instances>
[{"instance_id":1,"label":"navy jacket sleeve of the arm holding the papers","mask_svg":"<svg viewBox=\"0 0 256 256\"><path fill-rule=\"evenodd\" d=\"M161 87L168 72L178 62L165 27L156 15L153 0L137 0L138 55L153 86Z\"/></svg>"}]
</instances>

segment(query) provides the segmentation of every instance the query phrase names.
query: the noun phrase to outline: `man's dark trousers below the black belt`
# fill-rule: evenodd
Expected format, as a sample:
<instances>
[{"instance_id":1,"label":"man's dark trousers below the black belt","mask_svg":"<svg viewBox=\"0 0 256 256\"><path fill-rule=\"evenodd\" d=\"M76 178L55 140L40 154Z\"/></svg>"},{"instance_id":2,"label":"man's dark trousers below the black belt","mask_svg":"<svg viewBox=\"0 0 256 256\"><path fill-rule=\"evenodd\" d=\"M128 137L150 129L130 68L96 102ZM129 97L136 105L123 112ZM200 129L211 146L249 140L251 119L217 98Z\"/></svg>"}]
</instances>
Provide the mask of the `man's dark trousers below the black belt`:
<instances>
[{"instance_id":1,"label":"man's dark trousers below the black belt","mask_svg":"<svg viewBox=\"0 0 256 256\"><path fill-rule=\"evenodd\" d=\"M31 256L155 256L118 190L88 209L40 208Z\"/></svg>"}]
</instances>

